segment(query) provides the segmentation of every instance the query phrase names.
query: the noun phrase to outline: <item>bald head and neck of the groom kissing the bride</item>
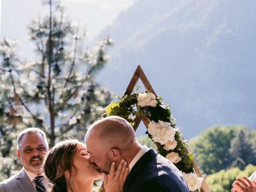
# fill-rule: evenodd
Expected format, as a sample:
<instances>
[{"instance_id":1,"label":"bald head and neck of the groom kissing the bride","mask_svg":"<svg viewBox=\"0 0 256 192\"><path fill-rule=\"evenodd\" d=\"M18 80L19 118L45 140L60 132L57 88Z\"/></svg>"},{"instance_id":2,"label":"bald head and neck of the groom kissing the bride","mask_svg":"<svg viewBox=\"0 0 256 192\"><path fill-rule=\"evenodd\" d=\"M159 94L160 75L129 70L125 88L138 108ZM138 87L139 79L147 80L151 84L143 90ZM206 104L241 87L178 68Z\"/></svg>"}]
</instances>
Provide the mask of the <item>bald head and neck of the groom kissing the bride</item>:
<instances>
[{"instance_id":1,"label":"bald head and neck of the groom kissing the bride","mask_svg":"<svg viewBox=\"0 0 256 192\"><path fill-rule=\"evenodd\" d=\"M113 161L118 165L125 159L129 165L142 148L130 123L118 116L106 117L90 126L85 142L93 167L107 174Z\"/></svg>"}]
</instances>

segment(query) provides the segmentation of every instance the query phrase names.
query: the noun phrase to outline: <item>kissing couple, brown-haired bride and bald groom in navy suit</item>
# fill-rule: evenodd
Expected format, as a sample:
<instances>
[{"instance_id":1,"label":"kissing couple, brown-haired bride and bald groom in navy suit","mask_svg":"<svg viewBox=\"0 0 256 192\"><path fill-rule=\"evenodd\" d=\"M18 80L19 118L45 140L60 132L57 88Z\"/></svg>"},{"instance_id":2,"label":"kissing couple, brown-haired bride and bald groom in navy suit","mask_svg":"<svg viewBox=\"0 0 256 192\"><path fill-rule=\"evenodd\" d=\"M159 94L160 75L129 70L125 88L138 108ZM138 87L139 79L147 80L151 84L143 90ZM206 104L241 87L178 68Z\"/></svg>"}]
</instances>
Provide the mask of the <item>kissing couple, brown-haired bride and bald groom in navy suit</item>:
<instances>
[{"instance_id":1,"label":"kissing couple, brown-haired bride and bald groom in navy suit","mask_svg":"<svg viewBox=\"0 0 256 192\"><path fill-rule=\"evenodd\" d=\"M44 171L54 184L52 192L64 192L64 184L68 192L86 191L78 190L82 186L92 191L102 175L107 192L189 192L178 168L142 146L124 118L109 116L92 124L85 142L66 140L46 155Z\"/></svg>"}]
</instances>

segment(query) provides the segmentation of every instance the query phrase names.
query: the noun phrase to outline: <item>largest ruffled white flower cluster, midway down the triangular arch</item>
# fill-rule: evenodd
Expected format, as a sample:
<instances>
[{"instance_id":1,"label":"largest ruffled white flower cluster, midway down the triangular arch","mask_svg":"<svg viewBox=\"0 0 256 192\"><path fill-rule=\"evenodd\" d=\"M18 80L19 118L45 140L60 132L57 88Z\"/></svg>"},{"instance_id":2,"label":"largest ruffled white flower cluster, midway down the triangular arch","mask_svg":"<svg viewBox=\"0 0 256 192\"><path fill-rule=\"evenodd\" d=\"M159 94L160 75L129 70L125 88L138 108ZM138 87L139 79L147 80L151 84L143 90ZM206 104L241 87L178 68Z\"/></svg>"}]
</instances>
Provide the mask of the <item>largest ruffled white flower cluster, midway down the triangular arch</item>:
<instances>
[{"instance_id":1,"label":"largest ruffled white flower cluster, midway down the triangular arch","mask_svg":"<svg viewBox=\"0 0 256 192\"><path fill-rule=\"evenodd\" d=\"M158 120L158 123L151 121L148 124L148 133L152 136L154 142L164 145L169 140L174 140L176 131L171 123Z\"/></svg>"}]
</instances>

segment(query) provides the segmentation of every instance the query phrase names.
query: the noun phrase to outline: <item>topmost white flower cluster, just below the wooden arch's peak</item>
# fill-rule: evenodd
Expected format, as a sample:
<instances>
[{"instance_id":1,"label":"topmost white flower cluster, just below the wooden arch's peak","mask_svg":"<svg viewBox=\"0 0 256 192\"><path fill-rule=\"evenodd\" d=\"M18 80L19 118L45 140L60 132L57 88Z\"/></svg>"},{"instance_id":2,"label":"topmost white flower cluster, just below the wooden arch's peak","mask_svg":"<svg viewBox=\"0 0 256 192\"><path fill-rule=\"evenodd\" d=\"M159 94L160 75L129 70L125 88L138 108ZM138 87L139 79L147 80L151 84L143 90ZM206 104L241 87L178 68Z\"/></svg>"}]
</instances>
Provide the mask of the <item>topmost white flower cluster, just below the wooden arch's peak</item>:
<instances>
[{"instance_id":1,"label":"topmost white flower cluster, just below the wooden arch's peak","mask_svg":"<svg viewBox=\"0 0 256 192\"><path fill-rule=\"evenodd\" d=\"M138 106L151 106L155 107L157 105L156 96L153 93L140 93L137 97Z\"/></svg>"}]
</instances>

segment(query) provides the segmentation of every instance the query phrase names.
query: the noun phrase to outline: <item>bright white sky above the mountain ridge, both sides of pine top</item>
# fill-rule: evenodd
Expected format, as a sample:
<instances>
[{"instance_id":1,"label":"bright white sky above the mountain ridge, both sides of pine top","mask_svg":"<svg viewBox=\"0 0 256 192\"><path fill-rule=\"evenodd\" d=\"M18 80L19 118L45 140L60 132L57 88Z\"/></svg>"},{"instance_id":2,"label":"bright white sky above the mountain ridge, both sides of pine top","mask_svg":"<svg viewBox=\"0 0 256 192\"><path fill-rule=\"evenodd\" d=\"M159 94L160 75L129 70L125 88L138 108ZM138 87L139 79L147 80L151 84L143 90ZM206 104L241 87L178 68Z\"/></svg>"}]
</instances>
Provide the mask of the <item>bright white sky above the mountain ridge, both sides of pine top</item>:
<instances>
[{"instance_id":1,"label":"bright white sky above the mountain ridge, both sides of pine top","mask_svg":"<svg viewBox=\"0 0 256 192\"><path fill-rule=\"evenodd\" d=\"M62 0L64 12L72 21L85 24L91 38L103 28L111 25L117 15L136 0ZM0 0L1 2L1 0ZM23 32L32 19L48 14L48 6L41 0L3 0L1 37L22 40ZM17 33L16 30L20 33ZM26 33L27 34L27 33ZM27 38L27 37L26 37Z\"/></svg>"}]
</instances>

